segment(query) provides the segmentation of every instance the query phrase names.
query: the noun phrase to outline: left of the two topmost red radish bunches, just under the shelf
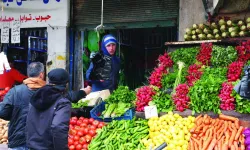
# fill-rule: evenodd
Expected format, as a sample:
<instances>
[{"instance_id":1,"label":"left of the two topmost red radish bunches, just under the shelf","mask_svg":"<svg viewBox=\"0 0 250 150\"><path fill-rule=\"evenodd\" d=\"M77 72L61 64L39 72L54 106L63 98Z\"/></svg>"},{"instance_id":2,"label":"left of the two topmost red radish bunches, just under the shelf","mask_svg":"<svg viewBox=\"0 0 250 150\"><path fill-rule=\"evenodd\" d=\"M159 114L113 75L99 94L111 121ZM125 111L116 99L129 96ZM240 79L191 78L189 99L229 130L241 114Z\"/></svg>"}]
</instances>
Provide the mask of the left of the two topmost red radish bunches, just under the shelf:
<instances>
[{"instance_id":1,"label":"left of the two topmost red radish bunches, just under the shelf","mask_svg":"<svg viewBox=\"0 0 250 150\"><path fill-rule=\"evenodd\" d=\"M202 63L202 65L209 65L210 59L212 57L212 43L202 43L201 49L199 54L197 55L196 59Z\"/></svg>"}]
</instances>

